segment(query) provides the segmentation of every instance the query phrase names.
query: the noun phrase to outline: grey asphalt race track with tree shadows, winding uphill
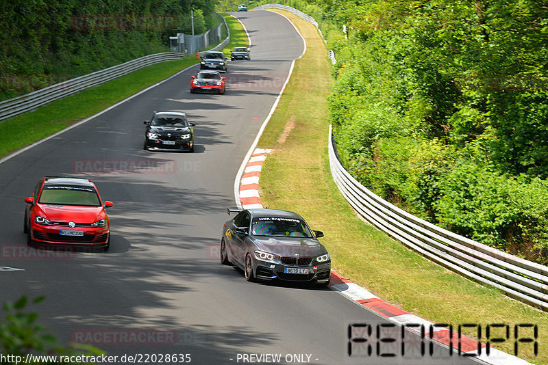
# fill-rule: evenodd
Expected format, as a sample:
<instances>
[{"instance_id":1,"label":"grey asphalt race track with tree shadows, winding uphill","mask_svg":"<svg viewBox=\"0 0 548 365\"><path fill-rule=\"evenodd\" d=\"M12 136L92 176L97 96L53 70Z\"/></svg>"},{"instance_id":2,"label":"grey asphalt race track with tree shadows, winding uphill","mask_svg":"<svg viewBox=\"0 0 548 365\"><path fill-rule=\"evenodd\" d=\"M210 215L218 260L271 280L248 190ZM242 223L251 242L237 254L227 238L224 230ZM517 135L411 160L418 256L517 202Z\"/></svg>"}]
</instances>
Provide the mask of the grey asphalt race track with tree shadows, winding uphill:
<instances>
[{"instance_id":1,"label":"grey asphalt race track with tree shadows, winding uphill","mask_svg":"<svg viewBox=\"0 0 548 365\"><path fill-rule=\"evenodd\" d=\"M429 355L428 342L424 357L378 357L374 346L371 356L348 357L350 323L388 322L332 290L249 283L220 264L236 172L303 52L286 18L235 15L249 31L252 61L229 62L227 94L190 94L198 67L191 68L0 164L0 267L23 269L0 271L0 301L45 295L30 308L38 322L62 343L84 341L109 355L190 354L191 364L242 364L242 354L281 355L261 357L263 364L475 364L437 345ZM142 122L159 110L186 111L197 124L195 153L142 150ZM114 202L108 252L27 248L23 198L42 176L90 178ZM327 243L329 227L312 229Z\"/></svg>"}]
</instances>

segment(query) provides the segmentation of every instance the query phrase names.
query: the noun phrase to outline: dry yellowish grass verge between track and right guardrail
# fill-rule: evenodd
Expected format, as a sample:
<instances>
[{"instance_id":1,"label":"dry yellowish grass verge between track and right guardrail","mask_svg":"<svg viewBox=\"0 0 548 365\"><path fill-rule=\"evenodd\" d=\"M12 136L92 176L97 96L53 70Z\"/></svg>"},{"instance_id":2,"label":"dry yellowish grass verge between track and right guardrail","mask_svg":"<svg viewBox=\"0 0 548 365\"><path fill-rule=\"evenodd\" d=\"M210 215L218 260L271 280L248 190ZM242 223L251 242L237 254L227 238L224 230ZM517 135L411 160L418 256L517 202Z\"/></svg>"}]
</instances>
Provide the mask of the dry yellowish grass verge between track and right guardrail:
<instances>
[{"instance_id":1,"label":"dry yellowish grass verge between track and right guardrail","mask_svg":"<svg viewBox=\"0 0 548 365\"><path fill-rule=\"evenodd\" d=\"M538 325L538 356L532 344L519 344L518 355L535 364L548 364L548 313L435 265L356 216L329 171L327 96L332 77L325 44L314 26L292 14L284 15L306 38L307 51L295 63L258 144L274 149L260 178L264 205L297 211L312 229L323 230L322 241L332 254L334 269L403 310L434 323L477 323L482 325L482 340L488 324L510 325L511 336L513 325ZM474 331L464 332L475 337ZM522 335L532 336L532 332ZM497 348L514 353L513 344L510 339Z\"/></svg>"}]
</instances>

